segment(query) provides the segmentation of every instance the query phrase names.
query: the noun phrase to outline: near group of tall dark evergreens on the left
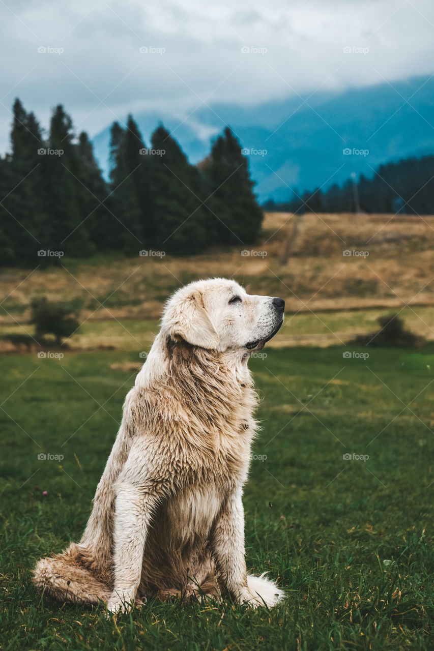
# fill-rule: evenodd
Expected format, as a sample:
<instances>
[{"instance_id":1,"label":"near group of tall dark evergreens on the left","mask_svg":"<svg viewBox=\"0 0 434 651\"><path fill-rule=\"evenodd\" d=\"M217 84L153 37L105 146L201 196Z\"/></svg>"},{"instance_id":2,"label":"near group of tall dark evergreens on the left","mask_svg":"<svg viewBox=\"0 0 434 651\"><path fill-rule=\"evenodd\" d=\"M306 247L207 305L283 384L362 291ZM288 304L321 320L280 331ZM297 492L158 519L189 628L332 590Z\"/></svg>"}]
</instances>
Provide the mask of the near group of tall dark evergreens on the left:
<instances>
[{"instance_id":1,"label":"near group of tall dark evergreens on the left","mask_svg":"<svg viewBox=\"0 0 434 651\"><path fill-rule=\"evenodd\" d=\"M242 247L261 229L248 161L229 128L195 166L163 126L147 146L132 116L126 128L115 122L108 182L87 133L75 137L62 105L44 137L17 99L10 143L10 154L0 158L3 264L143 249L187 255L210 246Z\"/></svg>"}]
</instances>

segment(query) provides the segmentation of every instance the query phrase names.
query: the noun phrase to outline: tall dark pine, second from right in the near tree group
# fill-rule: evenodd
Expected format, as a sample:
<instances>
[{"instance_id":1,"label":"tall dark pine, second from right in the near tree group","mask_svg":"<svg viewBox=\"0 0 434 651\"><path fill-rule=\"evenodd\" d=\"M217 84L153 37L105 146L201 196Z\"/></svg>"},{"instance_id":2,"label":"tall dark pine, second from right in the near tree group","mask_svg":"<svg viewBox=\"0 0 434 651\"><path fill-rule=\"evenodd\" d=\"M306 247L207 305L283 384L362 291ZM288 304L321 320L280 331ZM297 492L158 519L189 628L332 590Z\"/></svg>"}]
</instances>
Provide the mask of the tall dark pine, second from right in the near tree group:
<instances>
[{"instance_id":1,"label":"tall dark pine, second from right in the near tree group","mask_svg":"<svg viewBox=\"0 0 434 651\"><path fill-rule=\"evenodd\" d=\"M174 255L199 253L210 242L201 200L201 177L163 126L152 133L150 165L156 246ZM163 153L164 152L164 153Z\"/></svg>"}]
</instances>

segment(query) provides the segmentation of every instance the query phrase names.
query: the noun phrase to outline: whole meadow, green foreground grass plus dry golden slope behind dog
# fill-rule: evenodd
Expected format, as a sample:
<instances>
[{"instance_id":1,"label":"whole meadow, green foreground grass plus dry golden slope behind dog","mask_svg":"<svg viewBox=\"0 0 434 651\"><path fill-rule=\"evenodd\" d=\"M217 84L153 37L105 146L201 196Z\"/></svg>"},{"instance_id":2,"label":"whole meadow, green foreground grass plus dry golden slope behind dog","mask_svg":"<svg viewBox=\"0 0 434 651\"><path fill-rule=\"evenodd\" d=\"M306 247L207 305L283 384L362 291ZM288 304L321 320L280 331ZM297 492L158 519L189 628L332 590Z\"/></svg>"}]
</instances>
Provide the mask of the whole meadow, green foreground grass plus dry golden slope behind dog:
<instances>
[{"instance_id":1,"label":"whole meadow, green foreground grass plus dry golden slope behind dog","mask_svg":"<svg viewBox=\"0 0 434 651\"><path fill-rule=\"evenodd\" d=\"M263 258L243 261L233 250L203 260L66 260L65 268L3 273L2 651L433 648L434 221L386 225L386 217L369 217L365 243L374 227L388 238L368 258L346 259L340 241L325 242L329 227L317 224L314 237L309 219L286 261L291 223L270 215L257 247L267 251ZM362 246L353 222L328 221L345 247ZM375 273L388 288L372 284ZM270 611L230 600L150 601L108 619L102 606L36 594L36 560L78 540L85 527L162 301L179 281L217 274L287 300L284 328L250 361L262 430L244 493L248 570L267 571L285 601ZM29 303L42 294L81 301L83 325L68 346L49 341L46 356L28 342L18 353L14 336L32 340ZM426 344L349 344L390 311L401 311Z\"/></svg>"}]
</instances>

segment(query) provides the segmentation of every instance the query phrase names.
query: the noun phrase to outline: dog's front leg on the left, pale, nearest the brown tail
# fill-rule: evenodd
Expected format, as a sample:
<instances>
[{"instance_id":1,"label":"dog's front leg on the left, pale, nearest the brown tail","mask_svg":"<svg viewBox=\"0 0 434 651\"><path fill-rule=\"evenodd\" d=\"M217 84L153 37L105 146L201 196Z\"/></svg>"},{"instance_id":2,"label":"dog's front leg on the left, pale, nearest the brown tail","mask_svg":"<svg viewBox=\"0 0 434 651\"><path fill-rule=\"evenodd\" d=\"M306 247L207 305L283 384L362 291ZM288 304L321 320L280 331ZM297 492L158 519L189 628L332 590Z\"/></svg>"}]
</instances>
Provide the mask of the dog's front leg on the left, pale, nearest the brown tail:
<instances>
[{"instance_id":1,"label":"dog's front leg on the left, pale, nearest the brown tail","mask_svg":"<svg viewBox=\"0 0 434 651\"><path fill-rule=\"evenodd\" d=\"M107 604L115 613L128 609L139 587L143 550L156 496L122 480L117 482L113 530L113 592Z\"/></svg>"}]
</instances>

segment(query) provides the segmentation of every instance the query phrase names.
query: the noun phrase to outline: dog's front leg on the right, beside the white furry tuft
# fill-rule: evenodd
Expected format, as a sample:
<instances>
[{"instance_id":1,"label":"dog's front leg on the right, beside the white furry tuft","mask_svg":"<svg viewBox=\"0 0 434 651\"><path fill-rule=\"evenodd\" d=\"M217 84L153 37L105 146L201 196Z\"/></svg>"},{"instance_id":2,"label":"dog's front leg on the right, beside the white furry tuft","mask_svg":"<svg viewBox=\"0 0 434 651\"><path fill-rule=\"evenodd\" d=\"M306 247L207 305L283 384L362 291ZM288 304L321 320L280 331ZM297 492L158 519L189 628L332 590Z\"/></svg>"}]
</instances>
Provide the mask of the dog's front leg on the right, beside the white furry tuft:
<instances>
[{"instance_id":1,"label":"dog's front leg on the right, beside the white furry tuft","mask_svg":"<svg viewBox=\"0 0 434 651\"><path fill-rule=\"evenodd\" d=\"M222 508L212 531L211 548L218 574L232 596L241 603L251 601L252 595L247 585L244 508L240 487L229 495Z\"/></svg>"}]
</instances>

